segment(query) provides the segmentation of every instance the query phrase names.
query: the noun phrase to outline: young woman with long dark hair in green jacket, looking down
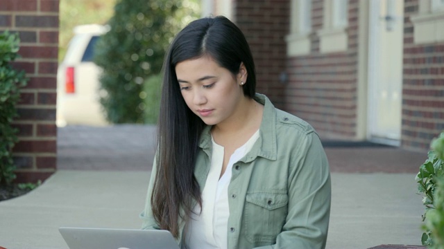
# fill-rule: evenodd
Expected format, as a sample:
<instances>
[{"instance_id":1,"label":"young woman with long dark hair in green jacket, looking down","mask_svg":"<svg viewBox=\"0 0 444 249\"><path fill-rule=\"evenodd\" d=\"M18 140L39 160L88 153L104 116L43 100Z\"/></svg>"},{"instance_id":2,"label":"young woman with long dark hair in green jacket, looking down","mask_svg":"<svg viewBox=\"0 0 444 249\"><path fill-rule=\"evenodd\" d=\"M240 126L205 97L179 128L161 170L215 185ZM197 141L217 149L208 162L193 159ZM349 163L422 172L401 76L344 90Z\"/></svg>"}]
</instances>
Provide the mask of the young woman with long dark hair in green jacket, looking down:
<instances>
[{"instance_id":1,"label":"young woman with long dark hair in green jacket, looking down","mask_svg":"<svg viewBox=\"0 0 444 249\"><path fill-rule=\"evenodd\" d=\"M178 33L164 62L142 229L169 230L182 248L325 248L321 142L255 84L246 39L225 17Z\"/></svg>"}]
</instances>

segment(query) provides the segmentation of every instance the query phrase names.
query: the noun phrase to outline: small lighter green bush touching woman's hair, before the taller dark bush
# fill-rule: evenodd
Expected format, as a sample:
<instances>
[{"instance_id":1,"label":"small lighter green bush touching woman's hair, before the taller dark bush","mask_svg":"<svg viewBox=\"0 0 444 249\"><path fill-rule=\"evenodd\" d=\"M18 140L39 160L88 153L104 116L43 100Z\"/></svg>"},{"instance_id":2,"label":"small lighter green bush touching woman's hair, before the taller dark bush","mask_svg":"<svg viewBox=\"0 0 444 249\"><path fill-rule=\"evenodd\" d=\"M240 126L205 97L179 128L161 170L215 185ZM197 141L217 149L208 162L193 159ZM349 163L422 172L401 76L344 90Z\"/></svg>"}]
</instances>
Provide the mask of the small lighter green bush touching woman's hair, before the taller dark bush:
<instances>
[{"instance_id":1,"label":"small lighter green bush touching woman's hair, before the taller dark bush","mask_svg":"<svg viewBox=\"0 0 444 249\"><path fill-rule=\"evenodd\" d=\"M144 84L144 91L140 93L140 98L144 100L145 123L157 124L160 108L160 86L162 76L160 74L148 78Z\"/></svg>"}]
</instances>

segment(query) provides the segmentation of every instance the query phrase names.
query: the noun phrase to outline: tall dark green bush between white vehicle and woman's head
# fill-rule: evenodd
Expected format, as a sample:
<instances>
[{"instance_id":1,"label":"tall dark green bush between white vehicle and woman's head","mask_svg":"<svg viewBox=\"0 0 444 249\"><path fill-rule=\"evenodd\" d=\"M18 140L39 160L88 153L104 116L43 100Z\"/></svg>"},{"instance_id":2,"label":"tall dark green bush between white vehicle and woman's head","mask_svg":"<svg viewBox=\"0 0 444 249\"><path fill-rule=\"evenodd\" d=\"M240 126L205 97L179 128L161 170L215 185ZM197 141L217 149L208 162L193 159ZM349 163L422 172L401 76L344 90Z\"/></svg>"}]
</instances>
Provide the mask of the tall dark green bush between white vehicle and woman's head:
<instances>
[{"instance_id":1,"label":"tall dark green bush between white vehicle and woman's head","mask_svg":"<svg viewBox=\"0 0 444 249\"><path fill-rule=\"evenodd\" d=\"M197 18L189 0L118 0L110 31L96 45L103 68L101 104L112 123L144 122L144 83L160 73L174 35Z\"/></svg>"}]
</instances>

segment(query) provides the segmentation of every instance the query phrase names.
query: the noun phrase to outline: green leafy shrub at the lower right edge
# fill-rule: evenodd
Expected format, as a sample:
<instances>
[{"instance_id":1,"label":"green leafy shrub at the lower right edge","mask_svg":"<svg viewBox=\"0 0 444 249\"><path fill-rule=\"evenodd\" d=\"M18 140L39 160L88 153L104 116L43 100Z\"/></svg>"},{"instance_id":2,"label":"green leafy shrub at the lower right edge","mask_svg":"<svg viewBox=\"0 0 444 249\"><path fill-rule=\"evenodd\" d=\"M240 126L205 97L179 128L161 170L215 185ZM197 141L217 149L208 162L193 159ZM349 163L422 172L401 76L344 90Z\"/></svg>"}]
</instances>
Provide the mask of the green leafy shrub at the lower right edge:
<instances>
[{"instance_id":1,"label":"green leafy shrub at the lower right edge","mask_svg":"<svg viewBox=\"0 0 444 249\"><path fill-rule=\"evenodd\" d=\"M425 196L425 214L422 221L422 245L434 249L444 249L444 132L432 140L429 158L420 166L415 180L418 192Z\"/></svg>"}]
</instances>

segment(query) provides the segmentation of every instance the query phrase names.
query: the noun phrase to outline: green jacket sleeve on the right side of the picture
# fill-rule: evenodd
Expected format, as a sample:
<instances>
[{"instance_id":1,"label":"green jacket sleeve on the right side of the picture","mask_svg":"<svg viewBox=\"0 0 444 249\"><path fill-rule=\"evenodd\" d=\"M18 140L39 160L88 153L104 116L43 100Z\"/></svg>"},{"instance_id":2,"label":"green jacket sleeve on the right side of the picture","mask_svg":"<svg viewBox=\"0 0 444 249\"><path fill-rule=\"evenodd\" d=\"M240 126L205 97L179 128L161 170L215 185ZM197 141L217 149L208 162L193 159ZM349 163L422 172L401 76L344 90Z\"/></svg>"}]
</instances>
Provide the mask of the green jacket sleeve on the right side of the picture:
<instances>
[{"instance_id":1,"label":"green jacket sleeve on the right side of the picture","mask_svg":"<svg viewBox=\"0 0 444 249\"><path fill-rule=\"evenodd\" d=\"M289 167L288 214L276 243L260 248L325 248L331 181L327 156L312 131L296 148Z\"/></svg>"}]
</instances>

